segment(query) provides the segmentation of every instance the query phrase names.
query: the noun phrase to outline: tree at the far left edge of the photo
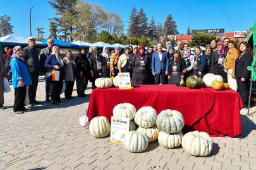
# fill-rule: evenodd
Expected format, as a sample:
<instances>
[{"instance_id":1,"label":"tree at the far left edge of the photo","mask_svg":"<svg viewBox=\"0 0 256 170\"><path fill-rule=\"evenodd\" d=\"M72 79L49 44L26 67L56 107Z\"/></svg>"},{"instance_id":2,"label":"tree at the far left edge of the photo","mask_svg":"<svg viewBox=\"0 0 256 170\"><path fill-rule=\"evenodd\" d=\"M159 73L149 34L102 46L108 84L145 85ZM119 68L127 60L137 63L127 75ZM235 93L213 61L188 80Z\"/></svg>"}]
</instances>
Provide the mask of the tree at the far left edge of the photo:
<instances>
[{"instance_id":1,"label":"tree at the far left edge of the photo","mask_svg":"<svg viewBox=\"0 0 256 170\"><path fill-rule=\"evenodd\" d=\"M0 16L0 37L9 35L13 33L13 27L9 21L11 21L11 17L4 15Z\"/></svg>"}]
</instances>

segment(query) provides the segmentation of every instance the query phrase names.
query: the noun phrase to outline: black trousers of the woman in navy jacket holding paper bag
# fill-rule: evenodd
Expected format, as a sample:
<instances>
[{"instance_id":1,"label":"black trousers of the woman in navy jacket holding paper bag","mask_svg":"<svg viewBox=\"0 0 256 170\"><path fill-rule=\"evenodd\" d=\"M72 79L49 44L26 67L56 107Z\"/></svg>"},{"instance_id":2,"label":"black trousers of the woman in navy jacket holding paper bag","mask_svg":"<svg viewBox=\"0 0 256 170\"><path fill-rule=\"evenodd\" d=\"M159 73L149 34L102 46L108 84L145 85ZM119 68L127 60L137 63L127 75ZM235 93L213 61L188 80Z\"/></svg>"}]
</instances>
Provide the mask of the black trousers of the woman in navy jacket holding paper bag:
<instances>
[{"instance_id":1,"label":"black trousers of the woman in navy jacket holding paper bag","mask_svg":"<svg viewBox=\"0 0 256 170\"><path fill-rule=\"evenodd\" d=\"M61 99L61 91L63 88L63 81L51 81L50 80L50 95L51 101L56 102Z\"/></svg>"}]
</instances>

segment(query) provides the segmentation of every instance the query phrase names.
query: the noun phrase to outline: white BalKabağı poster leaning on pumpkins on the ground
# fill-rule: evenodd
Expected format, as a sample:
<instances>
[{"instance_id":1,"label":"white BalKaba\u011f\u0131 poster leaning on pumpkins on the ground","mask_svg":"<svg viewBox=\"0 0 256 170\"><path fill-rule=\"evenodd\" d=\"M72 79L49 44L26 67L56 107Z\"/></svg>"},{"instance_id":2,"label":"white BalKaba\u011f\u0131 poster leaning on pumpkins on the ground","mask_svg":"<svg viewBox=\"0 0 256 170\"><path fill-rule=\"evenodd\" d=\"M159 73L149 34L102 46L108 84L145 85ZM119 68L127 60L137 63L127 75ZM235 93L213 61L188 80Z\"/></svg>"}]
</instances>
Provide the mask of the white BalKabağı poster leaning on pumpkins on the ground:
<instances>
[{"instance_id":1,"label":"white BalKaba\u011f\u0131 poster leaning on pumpkins on the ground","mask_svg":"<svg viewBox=\"0 0 256 170\"><path fill-rule=\"evenodd\" d=\"M110 143L123 145L123 139L129 132L129 125L130 118L111 116Z\"/></svg>"}]
</instances>

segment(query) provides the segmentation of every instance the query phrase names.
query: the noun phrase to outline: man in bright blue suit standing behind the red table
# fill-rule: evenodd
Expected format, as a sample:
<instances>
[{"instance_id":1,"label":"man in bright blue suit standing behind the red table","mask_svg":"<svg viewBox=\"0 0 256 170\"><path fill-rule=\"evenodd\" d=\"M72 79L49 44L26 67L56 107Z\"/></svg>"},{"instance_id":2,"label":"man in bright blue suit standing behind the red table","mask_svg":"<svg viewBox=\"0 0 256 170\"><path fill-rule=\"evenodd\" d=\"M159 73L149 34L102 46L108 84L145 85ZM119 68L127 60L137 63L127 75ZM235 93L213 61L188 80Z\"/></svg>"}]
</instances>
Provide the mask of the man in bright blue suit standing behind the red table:
<instances>
[{"instance_id":1,"label":"man in bright blue suit standing behind the red table","mask_svg":"<svg viewBox=\"0 0 256 170\"><path fill-rule=\"evenodd\" d=\"M169 57L167 52L162 50L162 43L157 43L157 51L152 55L152 74L155 76L155 84L166 84L165 75L169 71Z\"/></svg>"}]
</instances>

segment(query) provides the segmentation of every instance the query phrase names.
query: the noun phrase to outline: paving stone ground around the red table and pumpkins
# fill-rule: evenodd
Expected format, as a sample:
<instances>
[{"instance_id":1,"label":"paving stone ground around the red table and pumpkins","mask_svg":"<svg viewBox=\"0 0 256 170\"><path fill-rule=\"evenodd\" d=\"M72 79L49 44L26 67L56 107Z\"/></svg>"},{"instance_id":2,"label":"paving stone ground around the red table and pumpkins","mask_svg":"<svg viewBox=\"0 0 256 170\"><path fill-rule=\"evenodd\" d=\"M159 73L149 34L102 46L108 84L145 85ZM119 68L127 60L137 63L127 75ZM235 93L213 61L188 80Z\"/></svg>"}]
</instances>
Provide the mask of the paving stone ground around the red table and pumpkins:
<instances>
[{"instance_id":1,"label":"paving stone ground around the red table and pumpkins","mask_svg":"<svg viewBox=\"0 0 256 170\"><path fill-rule=\"evenodd\" d=\"M157 141L144 152L131 153L110 144L109 136L95 139L80 126L91 84L87 98L78 98L75 84L75 98L66 100L62 94L64 103L58 106L44 101L44 86L41 76L37 100L42 104L22 115L13 113L12 86L10 93L4 93L7 109L0 110L0 169L256 169L256 108L250 116L241 112L240 135L212 138L209 156L189 156L182 147L166 149Z\"/></svg>"}]
</instances>

